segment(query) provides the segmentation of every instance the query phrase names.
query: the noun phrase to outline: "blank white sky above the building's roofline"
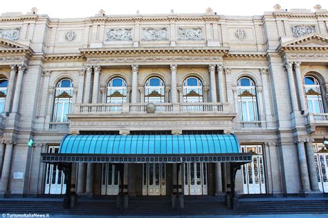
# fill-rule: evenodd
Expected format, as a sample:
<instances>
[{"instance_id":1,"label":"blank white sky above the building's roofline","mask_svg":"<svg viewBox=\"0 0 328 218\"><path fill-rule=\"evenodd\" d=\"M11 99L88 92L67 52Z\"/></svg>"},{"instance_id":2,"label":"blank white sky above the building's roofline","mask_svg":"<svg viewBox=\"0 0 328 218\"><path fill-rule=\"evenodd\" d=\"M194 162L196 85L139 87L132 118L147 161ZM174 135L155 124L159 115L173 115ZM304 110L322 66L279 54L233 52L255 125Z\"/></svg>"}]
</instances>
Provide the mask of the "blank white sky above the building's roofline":
<instances>
[{"instance_id":1,"label":"blank white sky above the building's roofline","mask_svg":"<svg viewBox=\"0 0 328 218\"><path fill-rule=\"evenodd\" d=\"M30 12L36 7L39 14L52 18L92 17L103 9L106 14L163 14L203 13L212 8L217 14L224 15L262 15L272 11L279 3L284 9L306 8L313 10L316 4L328 10L327 0L1 0L0 13Z\"/></svg>"}]
</instances>

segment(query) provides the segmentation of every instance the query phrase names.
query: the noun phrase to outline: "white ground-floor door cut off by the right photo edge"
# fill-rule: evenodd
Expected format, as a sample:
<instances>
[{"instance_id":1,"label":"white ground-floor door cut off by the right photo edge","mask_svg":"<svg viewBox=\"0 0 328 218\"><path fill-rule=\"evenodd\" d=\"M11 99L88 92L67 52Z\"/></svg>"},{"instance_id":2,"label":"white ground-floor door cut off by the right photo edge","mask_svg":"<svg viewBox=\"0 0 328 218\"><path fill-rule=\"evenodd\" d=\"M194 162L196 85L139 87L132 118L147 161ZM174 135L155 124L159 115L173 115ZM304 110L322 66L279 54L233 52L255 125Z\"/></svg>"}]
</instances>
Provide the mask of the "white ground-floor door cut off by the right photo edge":
<instances>
[{"instance_id":1,"label":"white ground-floor door cut off by the right photo edge","mask_svg":"<svg viewBox=\"0 0 328 218\"><path fill-rule=\"evenodd\" d=\"M328 150L323 143L313 144L314 161L316 161L316 171L318 175L319 189L322 192L328 192Z\"/></svg>"}]
</instances>

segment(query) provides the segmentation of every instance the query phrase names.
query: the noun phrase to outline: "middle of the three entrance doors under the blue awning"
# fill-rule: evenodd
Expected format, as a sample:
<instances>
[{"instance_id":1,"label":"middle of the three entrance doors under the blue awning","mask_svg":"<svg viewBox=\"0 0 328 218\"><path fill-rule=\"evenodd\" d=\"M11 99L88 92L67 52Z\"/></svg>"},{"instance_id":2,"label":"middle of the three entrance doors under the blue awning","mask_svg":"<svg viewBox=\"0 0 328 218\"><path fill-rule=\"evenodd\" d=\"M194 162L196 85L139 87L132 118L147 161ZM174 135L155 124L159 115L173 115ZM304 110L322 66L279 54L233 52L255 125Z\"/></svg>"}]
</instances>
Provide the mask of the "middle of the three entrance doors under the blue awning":
<instances>
[{"instance_id":1,"label":"middle of the three entrance doors under the blue awning","mask_svg":"<svg viewBox=\"0 0 328 218\"><path fill-rule=\"evenodd\" d=\"M143 164L143 195L166 195L165 164Z\"/></svg>"}]
</instances>

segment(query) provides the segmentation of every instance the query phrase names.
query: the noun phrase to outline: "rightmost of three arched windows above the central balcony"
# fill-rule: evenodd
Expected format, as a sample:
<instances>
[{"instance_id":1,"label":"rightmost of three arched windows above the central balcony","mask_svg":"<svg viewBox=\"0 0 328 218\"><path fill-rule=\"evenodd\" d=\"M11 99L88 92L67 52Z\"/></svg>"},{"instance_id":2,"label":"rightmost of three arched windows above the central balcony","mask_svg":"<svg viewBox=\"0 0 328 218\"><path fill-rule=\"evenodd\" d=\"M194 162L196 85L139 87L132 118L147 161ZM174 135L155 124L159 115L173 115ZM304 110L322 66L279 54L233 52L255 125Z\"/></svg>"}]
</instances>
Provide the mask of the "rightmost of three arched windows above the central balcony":
<instances>
[{"instance_id":1,"label":"rightmost of three arched windows above the central balcony","mask_svg":"<svg viewBox=\"0 0 328 218\"><path fill-rule=\"evenodd\" d=\"M203 102L203 84L196 77L188 77L183 81L183 102Z\"/></svg>"}]
</instances>

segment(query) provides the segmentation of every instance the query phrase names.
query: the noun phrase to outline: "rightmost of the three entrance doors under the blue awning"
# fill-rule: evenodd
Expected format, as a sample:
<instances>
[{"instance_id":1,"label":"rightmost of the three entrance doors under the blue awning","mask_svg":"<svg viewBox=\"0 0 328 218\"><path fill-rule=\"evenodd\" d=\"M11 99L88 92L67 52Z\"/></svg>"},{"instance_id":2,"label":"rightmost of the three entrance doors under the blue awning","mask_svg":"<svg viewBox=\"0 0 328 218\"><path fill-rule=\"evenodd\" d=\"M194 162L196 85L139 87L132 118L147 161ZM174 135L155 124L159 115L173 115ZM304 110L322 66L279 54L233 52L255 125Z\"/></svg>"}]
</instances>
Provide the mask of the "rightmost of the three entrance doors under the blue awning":
<instances>
[{"instance_id":1,"label":"rightmost of the three entrance doors under the blue awning","mask_svg":"<svg viewBox=\"0 0 328 218\"><path fill-rule=\"evenodd\" d=\"M204 163L184 164L185 195L208 195L207 165Z\"/></svg>"}]
</instances>

